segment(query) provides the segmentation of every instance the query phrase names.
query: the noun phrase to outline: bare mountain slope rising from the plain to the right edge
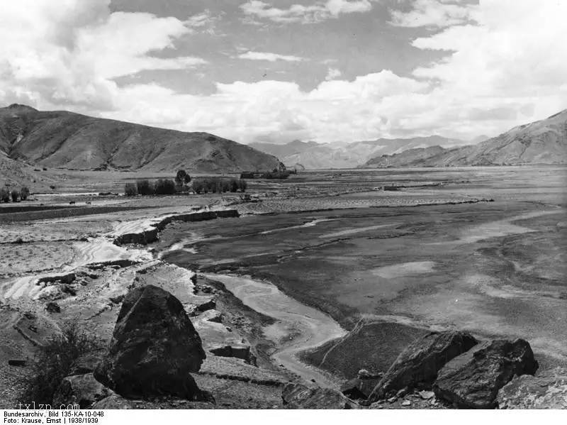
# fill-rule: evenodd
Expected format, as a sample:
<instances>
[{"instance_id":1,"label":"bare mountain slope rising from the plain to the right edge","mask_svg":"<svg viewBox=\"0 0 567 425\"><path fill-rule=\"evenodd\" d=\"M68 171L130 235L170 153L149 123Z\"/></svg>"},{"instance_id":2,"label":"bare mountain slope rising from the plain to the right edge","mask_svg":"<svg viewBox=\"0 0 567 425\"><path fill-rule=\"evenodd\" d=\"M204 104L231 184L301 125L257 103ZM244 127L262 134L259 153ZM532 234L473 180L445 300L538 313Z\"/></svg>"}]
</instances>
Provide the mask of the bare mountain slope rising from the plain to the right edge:
<instances>
[{"instance_id":1,"label":"bare mountain slope rising from the plain to the right edge","mask_svg":"<svg viewBox=\"0 0 567 425\"><path fill-rule=\"evenodd\" d=\"M460 148L408 150L381 155L365 167L454 167L459 165L567 164L567 109L495 138Z\"/></svg>"}]
</instances>

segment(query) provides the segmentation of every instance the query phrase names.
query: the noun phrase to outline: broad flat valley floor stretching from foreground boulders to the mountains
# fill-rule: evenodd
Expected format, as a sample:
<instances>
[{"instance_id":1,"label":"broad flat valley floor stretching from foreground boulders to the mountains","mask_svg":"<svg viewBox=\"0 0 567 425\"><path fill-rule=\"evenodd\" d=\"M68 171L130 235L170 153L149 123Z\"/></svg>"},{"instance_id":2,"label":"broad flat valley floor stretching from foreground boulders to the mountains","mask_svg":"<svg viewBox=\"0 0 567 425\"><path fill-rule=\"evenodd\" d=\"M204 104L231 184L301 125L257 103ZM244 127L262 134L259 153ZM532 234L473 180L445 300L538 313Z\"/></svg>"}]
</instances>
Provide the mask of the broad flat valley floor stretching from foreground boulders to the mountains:
<instances>
[{"instance_id":1,"label":"broad flat valley floor stretching from foreground boulders to the mountains","mask_svg":"<svg viewBox=\"0 0 567 425\"><path fill-rule=\"evenodd\" d=\"M566 364L566 182L566 167L340 170L251 182L253 202L77 187L26 203L59 216L0 208L0 382L17 384L26 368L7 361L32 358L64 321L108 341L133 282L157 282L188 309L214 297L220 323L211 309L192 318L206 350L251 348L258 368L208 354L197 380L219 407L281 407L281 382L333 386L360 368L383 371L424 329L522 337L543 368ZM112 243L157 216L228 208L240 218L174 221L147 247ZM131 264L92 268L113 260ZM188 283L190 270L213 295ZM71 292L36 285L69 272ZM239 395L246 385L250 399ZM17 385L3 386L8 407Z\"/></svg>"}]
</instances>

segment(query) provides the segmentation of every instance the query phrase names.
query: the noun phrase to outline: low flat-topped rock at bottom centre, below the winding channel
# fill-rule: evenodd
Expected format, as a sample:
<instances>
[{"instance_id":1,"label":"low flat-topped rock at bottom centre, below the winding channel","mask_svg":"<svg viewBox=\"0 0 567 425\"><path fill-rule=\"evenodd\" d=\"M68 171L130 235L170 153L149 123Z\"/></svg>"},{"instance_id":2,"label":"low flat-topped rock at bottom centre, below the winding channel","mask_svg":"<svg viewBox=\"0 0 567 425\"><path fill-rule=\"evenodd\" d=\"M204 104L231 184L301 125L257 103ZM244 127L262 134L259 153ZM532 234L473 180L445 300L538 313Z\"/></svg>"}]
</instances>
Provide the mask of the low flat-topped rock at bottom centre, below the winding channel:
<instances>
[{"instance_id":1,"label":"low flat-topped rock at bottom centre, below the winding channel","mask_svg":"<svg viewBox=\"0 0 567 425\"><path fill-rule=\"evenodd\" d=\"M330 388L306 387L290 383L281 394L286 409L354 409L356 405Z\"/></svg>"}]
</instances>

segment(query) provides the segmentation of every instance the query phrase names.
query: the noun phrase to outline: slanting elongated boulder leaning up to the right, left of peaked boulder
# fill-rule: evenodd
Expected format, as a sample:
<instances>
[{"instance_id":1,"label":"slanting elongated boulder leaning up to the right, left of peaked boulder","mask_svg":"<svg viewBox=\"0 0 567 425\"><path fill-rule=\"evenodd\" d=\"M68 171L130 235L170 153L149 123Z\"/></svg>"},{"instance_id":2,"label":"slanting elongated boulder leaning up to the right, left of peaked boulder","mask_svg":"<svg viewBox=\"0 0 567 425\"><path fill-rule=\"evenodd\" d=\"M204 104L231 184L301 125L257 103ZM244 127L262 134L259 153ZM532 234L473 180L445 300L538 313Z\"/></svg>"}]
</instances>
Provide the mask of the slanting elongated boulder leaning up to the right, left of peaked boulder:
<instances>
[{"instance_id":1,"label":"slanting elongated boulder leaning up to the right, left of peaked boulder","mask_svg":"<svg viewBox=\"0 0 567 425\"><path fill-rule=\"evenodd\" d=\"M395 360L369 397L375 402L403 388L430 388L445 363L476 346L470 333L431 332L418 338Z\"/></svg>"}]
</instances>

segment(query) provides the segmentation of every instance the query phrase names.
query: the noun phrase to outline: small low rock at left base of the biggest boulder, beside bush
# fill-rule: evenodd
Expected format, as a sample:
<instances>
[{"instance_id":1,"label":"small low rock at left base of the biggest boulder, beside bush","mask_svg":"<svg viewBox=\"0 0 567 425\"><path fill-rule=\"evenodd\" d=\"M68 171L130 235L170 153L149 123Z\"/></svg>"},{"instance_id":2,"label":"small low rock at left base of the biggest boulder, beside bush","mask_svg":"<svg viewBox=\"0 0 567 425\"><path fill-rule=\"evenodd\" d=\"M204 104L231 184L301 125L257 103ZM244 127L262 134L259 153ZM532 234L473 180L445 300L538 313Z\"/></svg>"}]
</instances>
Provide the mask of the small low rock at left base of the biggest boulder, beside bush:
<instances>
[{"instance_id":1,"label":"small low rock at left base of the biggest boulder, beside bush","mask_svg":"<svg viewBox=\"0 0 567 425\"><path fill-rule=\"evenodd\" d=\"M92 373L65 377L53 397L53 404L65 406L79 404L81 409L89 409L95 402L113 394L113 391L97 381Z\"/></svg>"}]
</instances>

